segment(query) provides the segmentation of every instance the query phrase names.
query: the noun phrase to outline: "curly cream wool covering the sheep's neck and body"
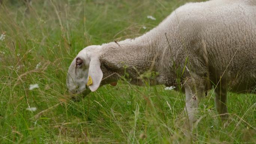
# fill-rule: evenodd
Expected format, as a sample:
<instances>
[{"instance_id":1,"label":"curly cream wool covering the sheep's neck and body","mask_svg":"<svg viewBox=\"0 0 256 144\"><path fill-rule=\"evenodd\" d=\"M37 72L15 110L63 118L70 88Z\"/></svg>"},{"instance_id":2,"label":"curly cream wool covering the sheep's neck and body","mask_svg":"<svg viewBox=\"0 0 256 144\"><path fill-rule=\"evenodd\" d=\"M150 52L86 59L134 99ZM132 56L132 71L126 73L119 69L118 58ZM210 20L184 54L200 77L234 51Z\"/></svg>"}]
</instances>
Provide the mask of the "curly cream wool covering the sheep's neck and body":
<instances>
[{"instance_id":1,"label":"curly cream wool covering the sheep's neck and body","mask_svg":"<svg viewBox=\"0 0 256 144\"><path fill-rule=\"evenodd\" d=\"M139 84L139 74L153 68L159 73L156 84L171 86L177 75L184 82L193 74L212 85L221 77L222 85L236 92L252 91L256 86L256 1L187 3L143 36L101 47L103 77L125 71L132 83Z\"/></svg>"}]
</instances>

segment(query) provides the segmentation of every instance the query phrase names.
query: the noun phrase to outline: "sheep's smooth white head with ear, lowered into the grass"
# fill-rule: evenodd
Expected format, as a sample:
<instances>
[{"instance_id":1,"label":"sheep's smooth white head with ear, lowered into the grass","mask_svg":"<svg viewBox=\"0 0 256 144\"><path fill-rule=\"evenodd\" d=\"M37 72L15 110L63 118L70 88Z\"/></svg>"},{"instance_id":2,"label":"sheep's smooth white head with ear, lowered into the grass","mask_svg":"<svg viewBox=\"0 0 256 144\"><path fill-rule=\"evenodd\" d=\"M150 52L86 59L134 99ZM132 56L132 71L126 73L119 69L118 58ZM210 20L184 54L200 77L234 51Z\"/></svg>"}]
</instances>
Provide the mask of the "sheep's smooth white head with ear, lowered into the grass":
<instances>
[{"instance_id":1,"label":"sheep's smooth white head with ear, lowered into the grass","mask_svg":"<svg viewBox=\"0 0 256 144\"><path fill-rule=\"evenodd\" d=\"M101 46L88 46L81 50L71 62L67 74L67 88L73 99L79 100L77 94L84 96L94 92L100 86L103 73L99 55Z\"/></svg>"}]
</instances>

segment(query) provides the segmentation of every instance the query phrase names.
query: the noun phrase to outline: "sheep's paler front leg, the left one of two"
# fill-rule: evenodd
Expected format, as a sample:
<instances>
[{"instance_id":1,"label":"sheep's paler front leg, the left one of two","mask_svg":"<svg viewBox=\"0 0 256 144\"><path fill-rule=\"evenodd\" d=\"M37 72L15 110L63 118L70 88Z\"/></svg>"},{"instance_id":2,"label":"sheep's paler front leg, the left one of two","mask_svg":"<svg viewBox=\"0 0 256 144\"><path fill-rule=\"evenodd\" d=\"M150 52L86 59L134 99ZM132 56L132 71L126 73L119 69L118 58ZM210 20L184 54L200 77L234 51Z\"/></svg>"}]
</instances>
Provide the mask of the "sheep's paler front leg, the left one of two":
<instances>
[{"instance_id":1,"label":"sheep's paler front leg, the left one of two","mask_svg":"<svg viewBox=\"0 0 256 144\"><path fill-rule=\"evenodd\" d=\"M202 92L196 91L189 86L185 87L186 107L185 111L188 114L189 128L192 129L193 123L196 121L197 107L201 100Z\"/></svg>"}]
</instances>

